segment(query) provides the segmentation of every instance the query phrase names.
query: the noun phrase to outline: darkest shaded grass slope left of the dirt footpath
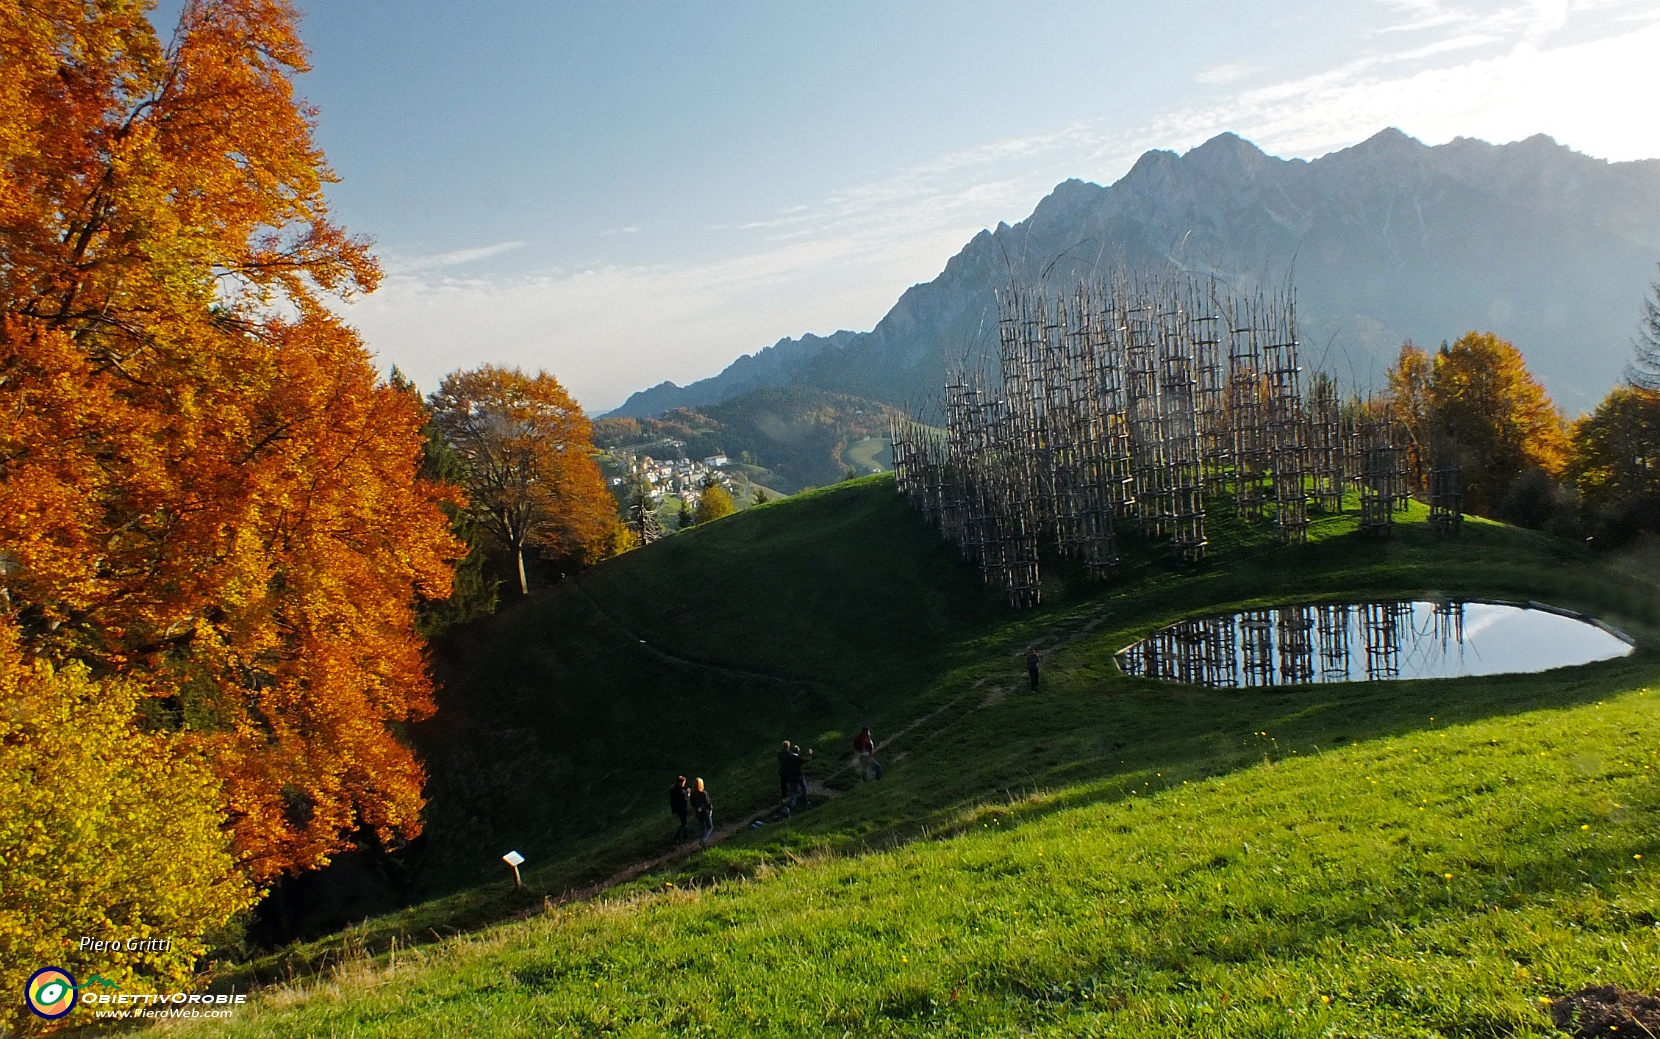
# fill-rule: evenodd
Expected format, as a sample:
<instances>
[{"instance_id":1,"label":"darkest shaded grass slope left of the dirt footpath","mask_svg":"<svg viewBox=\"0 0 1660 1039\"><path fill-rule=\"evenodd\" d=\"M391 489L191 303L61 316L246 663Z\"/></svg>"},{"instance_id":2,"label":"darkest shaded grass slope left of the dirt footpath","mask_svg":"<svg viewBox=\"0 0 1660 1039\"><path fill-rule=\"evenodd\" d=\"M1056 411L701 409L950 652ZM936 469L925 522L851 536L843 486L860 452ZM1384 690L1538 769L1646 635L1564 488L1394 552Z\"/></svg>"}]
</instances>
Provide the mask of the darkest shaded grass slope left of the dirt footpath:
<instances>
[{"instance_id":1,"label":"darkest shaded grass slope left of the dirt footpath","mask_svg":"<svg viewBox=\"0 0 1660 1039\"><path fill-rule=\"evenodd\" d=\"M750 508L455 632L438 714L413 729L427 835L267 911L315 931L455 891L375 933L496 919L667 850L677 773L704 777L724 820L775 798L779 740L843 747L948 697L936 677L978 652L963 641L1009 616L891 486ZM510 848L526 891L480 888Z\"/></svg>"}]
</instances>

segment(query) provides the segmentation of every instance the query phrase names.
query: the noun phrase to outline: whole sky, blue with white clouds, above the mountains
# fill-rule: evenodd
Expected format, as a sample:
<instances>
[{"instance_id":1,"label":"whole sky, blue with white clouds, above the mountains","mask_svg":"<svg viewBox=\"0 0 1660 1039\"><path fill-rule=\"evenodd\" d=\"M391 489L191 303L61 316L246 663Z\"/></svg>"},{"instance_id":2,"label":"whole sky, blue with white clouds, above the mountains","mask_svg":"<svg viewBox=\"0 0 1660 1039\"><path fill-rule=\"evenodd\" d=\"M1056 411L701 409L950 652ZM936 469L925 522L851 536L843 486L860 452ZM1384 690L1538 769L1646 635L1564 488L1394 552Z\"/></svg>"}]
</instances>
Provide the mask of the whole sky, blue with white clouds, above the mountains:
<instances>
[{"instance_id":1,"label":"whole sky, blue with white clouds, above the mountains","mask_svg":"<svg viewBox=\"0 0 1660 1039\"><path fill-rule=\"evenodd\" d=\"M1067 178L1233 131L1660 158L1660 0L327 0L305 7L344 307L425 390L491 362L599 413L868 330ZM166 7L158 17L166 18Z\"/></svg>"}]
</instances>

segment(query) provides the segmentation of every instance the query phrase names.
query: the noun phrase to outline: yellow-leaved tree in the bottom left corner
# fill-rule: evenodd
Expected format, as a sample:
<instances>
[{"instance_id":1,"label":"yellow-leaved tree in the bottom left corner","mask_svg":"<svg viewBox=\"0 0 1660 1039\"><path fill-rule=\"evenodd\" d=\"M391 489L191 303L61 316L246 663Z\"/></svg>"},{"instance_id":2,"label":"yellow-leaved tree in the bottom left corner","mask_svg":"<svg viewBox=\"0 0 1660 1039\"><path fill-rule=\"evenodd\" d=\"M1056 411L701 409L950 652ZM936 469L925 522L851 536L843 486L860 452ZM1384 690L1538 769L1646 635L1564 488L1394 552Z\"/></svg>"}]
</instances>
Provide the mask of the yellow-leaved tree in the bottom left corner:
<instances>
[{"instance_id":1,"label":"yellow-leaved tree in the bottom left corner","mask_svg":"<svg viewBox=\"0 0 1660 1039\"><path fill-rule=\"evenodd\" d=\"M43 966L128 991L188 979L204 938L254 901L219 780L184 742L134 732L143 699L83 664L23 661L0 624L0 1031ZM78 936L169 944L91 953Z\"/></svg>"}]
</instances>

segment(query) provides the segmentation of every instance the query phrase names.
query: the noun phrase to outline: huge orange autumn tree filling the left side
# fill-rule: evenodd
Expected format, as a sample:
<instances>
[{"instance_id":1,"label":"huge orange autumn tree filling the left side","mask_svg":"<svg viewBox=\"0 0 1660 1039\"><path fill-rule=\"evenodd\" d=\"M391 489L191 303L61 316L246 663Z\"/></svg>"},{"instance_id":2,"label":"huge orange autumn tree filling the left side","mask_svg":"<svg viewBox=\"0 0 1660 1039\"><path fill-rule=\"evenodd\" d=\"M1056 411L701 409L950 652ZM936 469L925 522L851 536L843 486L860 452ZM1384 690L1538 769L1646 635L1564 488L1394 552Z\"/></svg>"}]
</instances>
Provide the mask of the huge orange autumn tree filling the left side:
<instances>
[{"instance_id":1,"label":"huge orange autumn tree filling the left side","mask_svg":"<svg viewBox=\"0 0 1660 1039\"><path fill-rule=\"evenodd\" d=\"M325 307L378 267L329 221L294 8L189 0L166 46L146 8L0 0L0 627L139 687L266 885L418 833L393 725L461 546L418 402Z\"/></svg>"}]
</instances>

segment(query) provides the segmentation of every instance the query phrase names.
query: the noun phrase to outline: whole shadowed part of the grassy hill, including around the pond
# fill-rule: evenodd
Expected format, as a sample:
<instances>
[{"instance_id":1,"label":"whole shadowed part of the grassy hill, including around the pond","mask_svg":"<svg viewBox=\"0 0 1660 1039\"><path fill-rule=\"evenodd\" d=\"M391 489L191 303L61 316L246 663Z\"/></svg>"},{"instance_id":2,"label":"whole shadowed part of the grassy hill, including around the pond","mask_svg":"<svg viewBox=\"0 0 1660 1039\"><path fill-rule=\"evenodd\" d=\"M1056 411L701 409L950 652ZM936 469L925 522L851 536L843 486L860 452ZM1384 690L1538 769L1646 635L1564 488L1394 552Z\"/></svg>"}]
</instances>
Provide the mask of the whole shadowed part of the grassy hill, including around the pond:
<instances>
[{"instance_id":1,"label":"whole shadowed part of the grassy hill, including around the pond","mask_svg":"<svg viewBox=\"0 0 1660 1039\"><path fill-rule=\"evenodd\" d=\"M1660 614L1653 584L1582 546L1481 521L1457 541L1414 521L1378 543L1353 524L1316 516L1310 544L1280 546L1272 531L1218 518L1208 563L1175 569L1159 546L1127 541L1104 588L1046 561L1047 604L1028 614L1008 612L881 480L629 553L443 647L440 712L415 730L432 777L428 833L402 856L407 880L390 896L418 905L249 971L305 973L350 946L380 951L533 911L661 853L672 832L661 792L677 773L710 780L717 818L775 802L780 739L818 745L823 778L860 724L878 737L905 732L883 749L885 780L843 773L828 803L657 878L715 880L803 851L950 832L961 812L1016 790L1059 790L1024 803L1031 817L1265 755L1584 704L1660 676L1645 634ZM1643 649L1542 676L1295 690L1172 687L1125 679L1112 662L1197 611L1436 593L1554 601L1625 626ZM1021 664L1034 642L1047 654L1036 695ZM930 720L908 729L918 719ZM525 890L498 880L510 848L531 860Z\"/></svg>"}]
</instances>

